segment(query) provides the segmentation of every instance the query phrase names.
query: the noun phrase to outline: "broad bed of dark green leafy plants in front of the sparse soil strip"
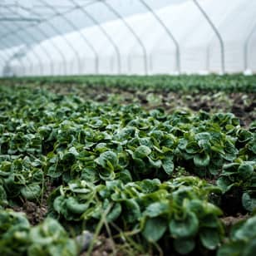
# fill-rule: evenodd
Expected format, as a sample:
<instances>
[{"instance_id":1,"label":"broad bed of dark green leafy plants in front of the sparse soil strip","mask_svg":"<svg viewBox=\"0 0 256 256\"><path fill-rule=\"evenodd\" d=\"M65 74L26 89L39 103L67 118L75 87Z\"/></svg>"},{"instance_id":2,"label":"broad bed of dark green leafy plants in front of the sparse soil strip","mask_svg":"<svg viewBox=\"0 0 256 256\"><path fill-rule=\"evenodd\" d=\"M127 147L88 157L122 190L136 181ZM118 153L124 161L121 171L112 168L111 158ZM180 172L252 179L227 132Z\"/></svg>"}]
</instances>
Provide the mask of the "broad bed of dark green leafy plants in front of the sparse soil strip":
<instances>
[{"instance_id":1,"label":"broad bed of dark green leafy plants in front of the sparse soil strip","mask_svg":"<svg viewBox=\"0 0 256 256\"><path fill-rule=\"evenodd\" d=\"M245 129L231 113L145 111L26 86L2 86L0 95L4 254L13 255L12 239L22 243L12 224L4 224L19 219L7 209L24 200L42 204L50 184L56 189L47 200L49 219L36 227L22 220L24 244L12 247L17 254L78 254L68 236L105 227L118 241L132 234L145 249L160 244L165 251L168 244L179 254L224 255L236 244L253 255L254 234L247 232L255 222L255 122ZM229 212L229 195L239 207L230 214L251 218L227 238L219 218ZM54 242L54 230L45 234L49 244L33 240L32 230L44 225L60 230Z\"/></svg>"}]
</instances>

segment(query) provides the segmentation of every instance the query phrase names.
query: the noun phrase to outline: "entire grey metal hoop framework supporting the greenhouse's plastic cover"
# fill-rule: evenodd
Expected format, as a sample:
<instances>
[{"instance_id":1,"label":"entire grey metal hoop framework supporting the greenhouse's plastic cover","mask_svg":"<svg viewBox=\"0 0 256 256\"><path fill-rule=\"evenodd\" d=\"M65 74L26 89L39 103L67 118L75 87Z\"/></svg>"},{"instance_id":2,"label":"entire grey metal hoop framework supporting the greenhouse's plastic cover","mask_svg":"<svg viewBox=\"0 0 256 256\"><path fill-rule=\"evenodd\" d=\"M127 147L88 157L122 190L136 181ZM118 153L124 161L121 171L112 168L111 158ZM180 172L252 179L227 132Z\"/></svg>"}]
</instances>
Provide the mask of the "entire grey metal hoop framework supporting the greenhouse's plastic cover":
<instances>
[{"instance_id":1,"label":"entire grey metal hoop framework supporting the greenhouse's plastic cover","mask_svg":"<svg viewBox=\"0 0 256 256\"><path fill-rule=\"evenodd\" d=\"M49 8L51 9L51 14L49 14L49 17L43 17L42 18L27 18L20 14L19 12L13 11L12 7L13 4L1 4L1 6L6 7L10 13L14 14L13 21L15 24L12 25L14 29L7 31L6 33L2 33L2 37L0 38L0 42L2 43L2 46L4 47L3 49L10 48L10 45L7 43L8 38L7 37L12 37L15 41L23 42L25 45L30 47L30 52L32 53L32 58L31 56L26 56L26 63L24 63L24 58L20 58L15 56L15 54L12 56L12 54L6 53L4 50L1 51L1 56L2 56L2 62L3 66L5 66L5 63L11 62L13 59L17 59L17 61L20 63L21 70L18 71L20 76L24 76L27 73L27 64L29 64L29 69L30 71L34 71L35 68L35 63L34 61L36 60L36 63L39 66L39 74L44 75L46 74L46 71L44 70L44 63L42 61L42 58L40 54L35 50L35 48L32 46L32 44L37 44L37 46L42 50L43 53L47 56L47 59L49 60L50 63L50 73L51 75L57 74L57 71L55 71L55 63L52 58L51 52L49 52L48 48L41 43L44 39L48 39L51 36L51 32L46 32L42 28L42 24L45 24L47 27L50 27L52 32L54 34L62 36L62 40L65 42L66 46L71 49L71 52L74 55L75 61L77 62L77 73L81 74L82 69L81 65L83 64L83 60L81 59L81 56L79 52L77 51L76 47L72 45L71 39L66 37L66 34L62 31L62 29L59 29L54 22L52 22L53 18L60 17L63 22L65 22L69 29L72 31L78 32L79 36L81 37L82 41L90 49L90 51L93 54L94 61L95 61L95 73L99 73L99 52L96 51L96 47L93 45L93 42L89 37L86 37L84 33L81 32L80 27L77 26L76 22L73 22L71 20L71 17L68 17L66 14L70 12L74 12L76 10L79 10L82 12L93 24L99 28L101 33L106 37L106 40L110 42L111 47L113 47L114 54L111 56L110 60L110 66L111 66L111 71L114 71L114 66L116 66L115 70L117 74L120 74L122 72L122 62L121 62L121 48L116 43L114 38L111 36L111 33L108 31L108 29L104 26L102 26L100 20L96 17L95 14L89 12L86 7L89 5L95 4L96 2L101 3L106 9L108 9L116 18L118 18L121 21L121 24L126 27L126 29L130 32L130 34L135 38L136 45L140 46L141 52L142 52L142 62L143 62L143 68L144 72L147 75L149 71L151 70L151 66L153 65L153 61L151 59L151 53L147 52L148 49L145 47L145 43L141 39L141 36L138 32L135 31L134 27L130 25L130 23L126 20L126 17L124 17L121 14L121 11L119 11L118 8L114 7L111 4L110 0L91 0L91 2L86 2L86 3L81 3L78 0L69 0L69 3L66 4L65 6L65 11L58 11L56 5L47 2L47 0L38 0L42 8ZM163 28L165 31L166 35L170 38L170 41L173 42L175 46L175 70L180 73L181 72L181 63L180 63L180 43L178 42L177 38L171 31L171 27L169 27L166 22L160 17L158 12L155 12L155 10L150 6L150 4L145 1L145 0L139 0L141 5L145 7L145 10L150 12L150 14L155 18L155 21L160 24L160 26ZM209 24L211 29L214 32L214 37L217 37L219 41L219 47L220 47L220 68L221 68L221 73L224 74L226 71L226 63L225 63L225 45L224 45L224 38L222 37L221 33L219 32L219 28L216 27L212 19L209 17L209 14L205 12L204 8L200 5L199 0L192 0L194 2L195 7L199 10L199 12L202 14L204 17L204 20ZM12 6L12 7L11 7ZM29 12L29 14L32 14L32 17L38 17L41 16L41 12L37 12L34 9L30 7L24 7L22 5L17 5L18 7L21 7L23 10L26 10ZM18 17L15 17L15 14L18 14ZM12 21L12 18L10 17L1 17L0 22L3 21ZM37 23L29 23L26 27L20 26L19 22L37 22ZM17 23L16 23L17 22ZM0 23L0 26L3 27L3 25ZM6 26L5 26L6 27ZM37 32L39 32L42 37L39 38L33 34L33 31L31 29L37 28ZM252 30L249 32L248 36L246 37L244 41L244 70L249 69L249 45L252 40L252 37L254 35L254 32L256 31L256 23L252 27ZM25 34L19 33L19 32L24 32ZM25 35L25 37L24 37ZM63 71L64 75L67 75L70 71L67 71L67 66L68 66L68 61L65 55L65 52L62 51L62 48L57 45L57 43L54 40L49 40L49 44L52 45L52 47L57 51L58 55L61 57L62 60L62 66L63 66ZM115 65L115 62L117 65ZM206 62L207 62L207 69L209 70L209 46L208 46L208 51L206 54ZM130 57L128 57L128 68L131 66L130 62ZM130 67L131 70L131 67ZM48 69L47 69L48 71Z\"/></svg>"}]
</instances>

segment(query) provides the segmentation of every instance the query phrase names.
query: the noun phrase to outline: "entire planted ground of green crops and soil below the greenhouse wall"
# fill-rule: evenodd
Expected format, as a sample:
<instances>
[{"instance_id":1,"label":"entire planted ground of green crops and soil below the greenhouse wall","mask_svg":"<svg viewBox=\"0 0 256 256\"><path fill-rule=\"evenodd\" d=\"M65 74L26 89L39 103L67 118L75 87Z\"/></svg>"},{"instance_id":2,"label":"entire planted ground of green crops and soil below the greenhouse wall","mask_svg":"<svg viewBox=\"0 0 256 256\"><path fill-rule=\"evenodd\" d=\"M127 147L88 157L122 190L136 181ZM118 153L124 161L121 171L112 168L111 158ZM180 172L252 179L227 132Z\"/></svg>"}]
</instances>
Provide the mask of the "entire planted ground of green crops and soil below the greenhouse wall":
<instances>
[{"instance_id":1,"label":"entire planted ground of green crops and soil below the greenhouse wall","mask_svg":"<svg viewBox=\"0 0 256 256\"><path fill-rule=\"evenodd\" d=\"M58 79L0 81L0 253L254 255L255 76Z\"/></svg>"}]
</instances>

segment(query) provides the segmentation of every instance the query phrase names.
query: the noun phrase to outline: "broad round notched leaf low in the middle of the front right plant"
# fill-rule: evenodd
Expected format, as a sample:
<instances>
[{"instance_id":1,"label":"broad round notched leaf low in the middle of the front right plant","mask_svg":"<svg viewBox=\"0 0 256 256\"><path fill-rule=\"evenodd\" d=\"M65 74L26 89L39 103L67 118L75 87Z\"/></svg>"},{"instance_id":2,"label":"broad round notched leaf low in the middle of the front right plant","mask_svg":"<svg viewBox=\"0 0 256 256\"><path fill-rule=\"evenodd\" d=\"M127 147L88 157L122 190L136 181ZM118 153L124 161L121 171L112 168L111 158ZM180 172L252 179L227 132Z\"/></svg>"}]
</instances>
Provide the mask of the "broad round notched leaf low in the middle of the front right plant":
<instances>
[{"instance_id":1,"label":"broad round notched leaf low in the middle of the front right plant","mask_svg":"<svg viewBox=\"0 0 256 256\"><path fill-rule=\"evenodd\" d=\"M170 219L169 229L174 238L193 237L199 229L199 220L194 213L188 212L184 218Z\"/></svg>"}]
</instances>

